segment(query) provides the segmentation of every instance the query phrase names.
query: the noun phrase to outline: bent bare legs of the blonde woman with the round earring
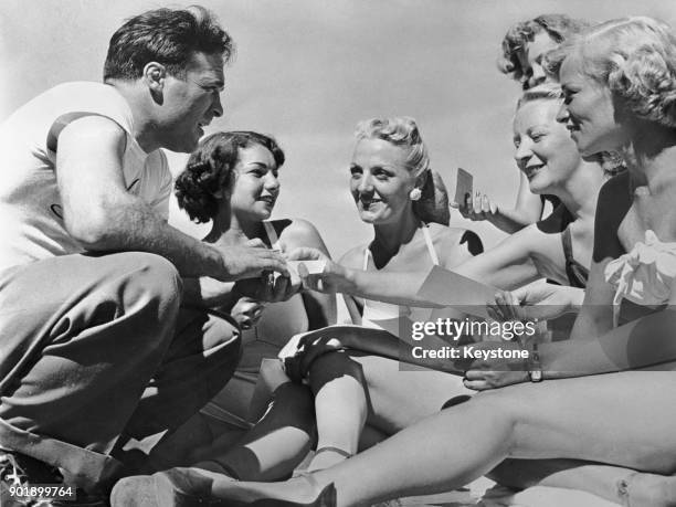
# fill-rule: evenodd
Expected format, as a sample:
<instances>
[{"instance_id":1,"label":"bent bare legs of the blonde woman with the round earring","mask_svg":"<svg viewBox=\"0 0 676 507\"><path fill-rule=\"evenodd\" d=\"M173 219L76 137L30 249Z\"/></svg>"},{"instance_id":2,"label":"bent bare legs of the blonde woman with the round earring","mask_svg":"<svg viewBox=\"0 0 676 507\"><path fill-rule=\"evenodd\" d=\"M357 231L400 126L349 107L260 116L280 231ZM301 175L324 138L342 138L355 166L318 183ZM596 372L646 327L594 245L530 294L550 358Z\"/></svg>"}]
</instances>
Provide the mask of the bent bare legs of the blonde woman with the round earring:
<instances>
[{"instance_id":1,"label":"bent bare legs of the blonde woman with the round earring","mask_svg":"<svg viewBox=\"0 0 676 507\"><path fill-rule=\"evenodd\" d=\"M315 392L320 452L309 471L327 468L346 454L356 454L367 418L371 427L393 434L439 412L450 398L473 393L457 376L402 371L400 366L392 359L356 351L326 353L313 362L308 378Z\"/></svg>"}]
</instances>

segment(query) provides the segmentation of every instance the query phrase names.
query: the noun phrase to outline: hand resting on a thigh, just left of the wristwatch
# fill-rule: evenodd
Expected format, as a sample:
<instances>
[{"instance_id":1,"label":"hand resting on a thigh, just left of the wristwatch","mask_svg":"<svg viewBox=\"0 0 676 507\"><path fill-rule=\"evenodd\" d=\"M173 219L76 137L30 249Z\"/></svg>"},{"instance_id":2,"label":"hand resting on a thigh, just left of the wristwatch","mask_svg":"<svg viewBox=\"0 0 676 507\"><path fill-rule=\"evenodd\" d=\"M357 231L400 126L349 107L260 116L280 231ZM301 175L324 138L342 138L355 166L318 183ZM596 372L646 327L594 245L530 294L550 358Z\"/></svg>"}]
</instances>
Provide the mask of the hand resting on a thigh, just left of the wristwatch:
<instances>
[{"instance_id":1,"label":"hand resting on a thigh, just left of the wristwatch","mask_svg":"<svg viewBox=\"0 0 676 507\"><path fill-rule=\"evenodd\" d=\"M498 348L503 350L520 350L520 346L514 341L484 341L471 347L474 350L495 350ZM528 382L529 380L527 363L524 359L488 358L476 359L469 369L465 371L463 383L467 389L486 391L488 389Z\"/></svg>"}]
</instances>

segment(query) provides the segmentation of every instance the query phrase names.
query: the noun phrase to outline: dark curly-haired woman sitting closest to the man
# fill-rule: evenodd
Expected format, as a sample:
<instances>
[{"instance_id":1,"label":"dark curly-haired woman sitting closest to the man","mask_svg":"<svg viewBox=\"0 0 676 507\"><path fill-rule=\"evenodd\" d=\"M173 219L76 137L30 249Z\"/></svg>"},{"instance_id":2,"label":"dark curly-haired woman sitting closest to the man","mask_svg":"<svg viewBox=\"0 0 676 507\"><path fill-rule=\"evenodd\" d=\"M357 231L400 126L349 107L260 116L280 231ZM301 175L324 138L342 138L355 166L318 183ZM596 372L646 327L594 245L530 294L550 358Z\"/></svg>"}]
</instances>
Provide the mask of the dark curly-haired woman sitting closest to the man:
<instances>
[{"instance_id":1,"label":"dark curly-haired woman sitting closest to the man","mask_svg":"<svg viewBox=\"0 0 676 507\"><path fill-rule=\"evenodd\" d=\"M270 220L279 197L278 173L284 159L272 137L254 131L213 134L200 142L178 176L178 204L193 221L211 221L211 231L204 237L208 243L222 246L263 243L282 252L313 246L328 254L311 223L299 219ZM208 455L214 452L213 439L205 439L204 433L218 434L216 446L228 447L233 439L252 427L251 421L260 413L255 410L250 413L250 408L265 358L276 358L292 336L335 323L334 296L302 292L287 300L267 304L240 294L241 286L242 283L233 285L229 302L205 302L239 321L243 355L232 380L202 410L202 416L194 418L172 439L182 440L183 447L190 443L189 460L199 458L202 452ZM161 452L173 454L170 461L182 453L169 443Z\"/></svg>"}]
</instances>

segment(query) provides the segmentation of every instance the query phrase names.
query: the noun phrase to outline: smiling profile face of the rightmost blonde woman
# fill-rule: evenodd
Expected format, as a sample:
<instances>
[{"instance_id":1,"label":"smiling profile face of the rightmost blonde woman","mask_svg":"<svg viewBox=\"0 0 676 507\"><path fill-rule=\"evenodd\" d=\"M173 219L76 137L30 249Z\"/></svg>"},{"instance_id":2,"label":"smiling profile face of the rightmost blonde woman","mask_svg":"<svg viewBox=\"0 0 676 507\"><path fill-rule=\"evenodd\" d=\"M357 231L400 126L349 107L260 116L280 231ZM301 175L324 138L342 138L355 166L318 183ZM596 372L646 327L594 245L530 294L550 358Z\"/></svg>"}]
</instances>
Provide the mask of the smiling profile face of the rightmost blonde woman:
<instances>
[{"instance_id":1,"label":"smiling profile face of the rightmost blonde woman","mask_svg":"<svg viewBox=\"0 0 676 507\"><path fill-rule=\"evenodd\" d=\"M559 71L564 103L559 114L583 157L617 150L626 134L615 120L608 86L582 73L581 55L567 56Z\"/></svg>"}]
</instances>

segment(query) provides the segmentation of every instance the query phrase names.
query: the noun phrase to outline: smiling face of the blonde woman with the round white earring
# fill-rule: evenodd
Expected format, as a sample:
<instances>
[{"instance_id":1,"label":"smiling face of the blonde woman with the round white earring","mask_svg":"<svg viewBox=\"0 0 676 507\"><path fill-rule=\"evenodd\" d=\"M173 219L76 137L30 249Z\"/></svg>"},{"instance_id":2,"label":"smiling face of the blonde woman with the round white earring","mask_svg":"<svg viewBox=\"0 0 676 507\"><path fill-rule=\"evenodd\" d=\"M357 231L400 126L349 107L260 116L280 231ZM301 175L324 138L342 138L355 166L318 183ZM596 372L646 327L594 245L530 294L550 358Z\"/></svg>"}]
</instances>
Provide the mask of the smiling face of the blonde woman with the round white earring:
<instances>
[{"instance_id":1,"label":"smiling face of the blonde woman with the round white earring","mask_svg":"<svg viewBox=\"0 0 676 507\"><path fill-rule=\"evenodd\" d=\"M362 221L372 224L399 222L411 211L409 193L415 177L406 167L408 152L384 139L357 142L350 163L350 191Z\"/></svg>"}]
</instances>

